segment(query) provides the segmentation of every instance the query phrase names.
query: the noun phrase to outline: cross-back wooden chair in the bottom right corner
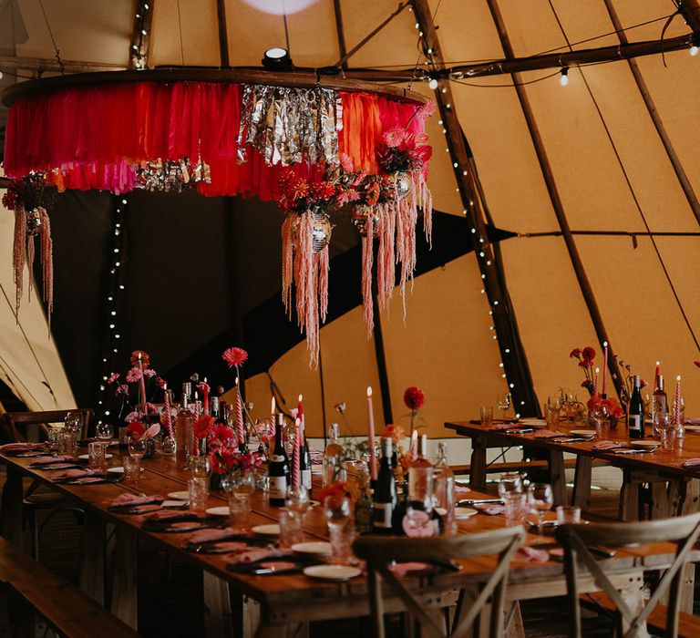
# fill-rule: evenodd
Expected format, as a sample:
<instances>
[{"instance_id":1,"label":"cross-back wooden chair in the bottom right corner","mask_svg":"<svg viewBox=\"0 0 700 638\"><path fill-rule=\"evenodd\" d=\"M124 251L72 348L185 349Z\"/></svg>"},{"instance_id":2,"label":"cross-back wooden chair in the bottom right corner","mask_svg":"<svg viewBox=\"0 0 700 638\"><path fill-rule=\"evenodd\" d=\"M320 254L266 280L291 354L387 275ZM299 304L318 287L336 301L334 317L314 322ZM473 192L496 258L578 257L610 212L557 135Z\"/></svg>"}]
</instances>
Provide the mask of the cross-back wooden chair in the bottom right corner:
<instances>
[{"instance_id":1,"label":"cross-back wooden chair in the bottom right corner","mask_svg":"<svg viewBox=\"0 0 700 638\"><path fill-rule=\"evenodd\" d=\"M695 541L700 536L700 513L674 519L643 522L562 525L557 529L556 536L564 548L571 636L575 636L575 638L581 636L581 612L577 580L579 562L591 572L597 585L608 594L620 612L624 623L628 626L627 631L623 633L624 638L637 635L665 592L669 592L666 618L667 635L678 635L682 568L688 561L688 553L693 549ZM623 547L624 545L652 542L673 542L675 544L675 558L671 567L665 571L643 611L637 614L624 602L620 592L612 585L588 548L595 545Z\"/></svg>"}]
</instances>

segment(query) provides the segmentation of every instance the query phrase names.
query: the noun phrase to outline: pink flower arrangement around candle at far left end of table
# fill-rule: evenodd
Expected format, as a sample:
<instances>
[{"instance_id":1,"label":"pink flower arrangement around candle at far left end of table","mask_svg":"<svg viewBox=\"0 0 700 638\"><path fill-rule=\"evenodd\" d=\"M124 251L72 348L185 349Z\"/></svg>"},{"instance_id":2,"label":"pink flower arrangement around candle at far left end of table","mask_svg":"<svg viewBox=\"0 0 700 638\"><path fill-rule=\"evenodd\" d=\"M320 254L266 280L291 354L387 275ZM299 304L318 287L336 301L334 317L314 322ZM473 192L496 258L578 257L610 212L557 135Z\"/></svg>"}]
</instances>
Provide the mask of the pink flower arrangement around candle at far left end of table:
<instances>
[{"instance_id":1,"label":"pink flower arrangement around candle at far left end of table","mask_svg":"<svg viewBox=\"0 0 700 638\"><path fill-rule=\"evenodd\" d=\"M150 367L148 353L134 350L130 363L131 367L123 376L113 372L107 380L108 385L114 387L118 400L117 419L122 423L155 417L158 408L152 401L165 387L165 381Z\"/></svg>"}]
</instances>

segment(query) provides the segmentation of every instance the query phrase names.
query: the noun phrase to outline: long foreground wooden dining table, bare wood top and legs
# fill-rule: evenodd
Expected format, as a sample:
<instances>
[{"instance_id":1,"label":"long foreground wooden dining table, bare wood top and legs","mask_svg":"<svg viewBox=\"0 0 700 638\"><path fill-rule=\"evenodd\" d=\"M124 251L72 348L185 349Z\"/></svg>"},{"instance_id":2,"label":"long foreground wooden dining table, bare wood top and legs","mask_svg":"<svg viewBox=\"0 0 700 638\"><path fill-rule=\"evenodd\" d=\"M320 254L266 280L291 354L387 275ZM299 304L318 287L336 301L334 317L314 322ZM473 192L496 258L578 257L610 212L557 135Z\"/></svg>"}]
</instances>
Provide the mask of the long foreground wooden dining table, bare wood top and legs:
<instances>
[{"instance_id":1,"label":"long foreground wooden dining table, bare wood top and legs","mask_svg":"<svg viewBox=\"0 0 700 638\"><path fill-rule=\"evenodd\" d=\"M51 481L46 471L29 468L30 459L0 457L7 468L7 481L3 494L2 533L6 539L21 544L22 539L22 478L31 477L51 486L57 491L76 499L86 509L86 524L81 547L81 579L84 591L100 602L104 602L104 555L105 525L115 527L115 548L110 578L112 581L112 612L136 627L137 596L137 547L141 543L155 543L156 547L178 555L185 561L198 565L205 575L205 606L208 616L208 634L234 635L230 618L222 618L228 602L228 586L241 595L259 603L260 619L256 635L279 636L284 627L291 629L314 620L346 618L369 613L367 587L364 577L347 582L312 581L304 575L248 576L228 571L225 556L191 553L183 549L189 534L154 533L141 529L147 515L119 515L108 511L107 501L124 491L165 495L171 491L185 489L189 473L177 468L173 458L157 457L144 461L145 471L135 487L124 483L71 486ZM118 455L111 459L118 465ZM468 495L479 498L478 492ZM224 502L222 495L212 494L211 506ZM277 520L278 510L270 507L262 493L256 493L252 503L251 524L269 523ZM459 533L489 530L505 525L499 516L478 514L468 520L459 521ZM310 540L326 538L323 512L314 508L307 513L304 533ZM536 536L528 537L533 543ZM639 599L644 569L659 569L673 560L674 547L668 543L625 548L614 559L602 561L613 580L624 588L628 596ZM700 554L693 560L700 559ZM448 600L448 592L457 588L476 586L485 581L494 569L496 557L483 557L461 561L461 570L432 578L415 577L408 581L420 592L426 604L442 606ZM143 567L143 565L141 565ZM585 577L584 579L585 580ZM592 591L592 579L582 583L582 592ZM509 599L539 598L561 595L566 591L563 569L560 562L530 563L513 561L510 569ZM388 612L398 609L396 602L387 602ZM238 628L235 634L252 633L253 627Z\"/></svg>"}]
</instances>

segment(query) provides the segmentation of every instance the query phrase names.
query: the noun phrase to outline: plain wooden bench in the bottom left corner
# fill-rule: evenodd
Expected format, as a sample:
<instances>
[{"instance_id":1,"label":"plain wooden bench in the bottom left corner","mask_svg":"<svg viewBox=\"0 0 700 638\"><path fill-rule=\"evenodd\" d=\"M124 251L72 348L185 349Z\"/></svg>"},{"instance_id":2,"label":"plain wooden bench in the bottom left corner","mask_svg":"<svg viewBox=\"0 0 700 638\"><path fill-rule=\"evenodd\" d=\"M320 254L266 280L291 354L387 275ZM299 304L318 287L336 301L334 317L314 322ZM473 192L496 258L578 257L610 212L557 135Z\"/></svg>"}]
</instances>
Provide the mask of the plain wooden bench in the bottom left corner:
<instances>
[{"instance_id":1,"label":"plain wooden bench in the bottom left corner","mask_svg":"<svg viewBox=\"0 0 700 638\"><path fill-rule=\"evenodd\" d=\"M77 587L32 560L0 538L0 587L2 608L15 592L57 633L70 638L134 638L139 634L81 592ZM6 623L7 619L0 619Z\"/></svg>"}]
</instances>

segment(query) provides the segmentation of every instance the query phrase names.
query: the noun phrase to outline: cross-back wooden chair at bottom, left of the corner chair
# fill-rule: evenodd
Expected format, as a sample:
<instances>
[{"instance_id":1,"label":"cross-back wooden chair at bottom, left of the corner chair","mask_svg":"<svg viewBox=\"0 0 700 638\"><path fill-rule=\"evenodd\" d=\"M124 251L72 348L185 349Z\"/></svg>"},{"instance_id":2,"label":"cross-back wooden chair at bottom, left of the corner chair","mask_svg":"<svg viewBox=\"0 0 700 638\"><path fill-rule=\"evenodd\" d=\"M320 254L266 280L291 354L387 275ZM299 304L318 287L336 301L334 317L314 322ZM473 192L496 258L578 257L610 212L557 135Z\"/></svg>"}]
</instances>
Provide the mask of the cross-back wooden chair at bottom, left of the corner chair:
<instances>
[{"instance_id":1,"label":"cross-back wooden chair at bottom, left of the corner chair","mask_svg":"<svg viewBox=\"0 0 700 638\"><path fill-rule=\"evenodd\" d=\"M376 638L384 638L382 582L403 603L407 611L416 616L425 635L429 636L465 635L490 599L492 607L489 636L500 638L503 630L503 604L510 561L523 540L525 540L525 531L521 527L435 539L366 537L355 540L353 545L355 555L364 559L367 564L370 607ZM463 606L458 605L457 617L451 632L443 628L444 623L440 617L433 610L426 609L389 569L392 561L445 562L489 554L499 555L498 566L466 613Z\"/></svg>"}]
</instances>

